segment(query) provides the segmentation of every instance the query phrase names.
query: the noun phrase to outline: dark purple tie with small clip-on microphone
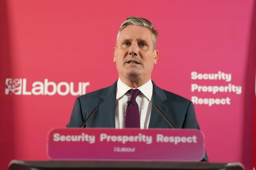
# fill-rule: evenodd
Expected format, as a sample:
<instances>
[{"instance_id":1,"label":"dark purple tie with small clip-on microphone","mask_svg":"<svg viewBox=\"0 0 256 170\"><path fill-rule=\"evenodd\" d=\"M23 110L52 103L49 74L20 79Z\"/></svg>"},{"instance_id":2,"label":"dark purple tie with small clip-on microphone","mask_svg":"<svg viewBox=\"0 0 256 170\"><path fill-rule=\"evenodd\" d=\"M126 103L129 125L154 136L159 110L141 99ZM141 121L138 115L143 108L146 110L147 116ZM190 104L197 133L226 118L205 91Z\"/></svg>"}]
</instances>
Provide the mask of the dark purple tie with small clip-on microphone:
<instances>
[{"instance_id":1,"label":"dark purple tie with small clip-on microphone","mask_svg":"<svg viewBox=\"0 0 256 170\"><path fill-rule=\"evenodd\" d=\"M131 93L131 99L127 102L125 127L140 128L139 106L136 102L136 97L140 94L140 90L134 89L129 91Z\"/></svg>"}]
</instances>

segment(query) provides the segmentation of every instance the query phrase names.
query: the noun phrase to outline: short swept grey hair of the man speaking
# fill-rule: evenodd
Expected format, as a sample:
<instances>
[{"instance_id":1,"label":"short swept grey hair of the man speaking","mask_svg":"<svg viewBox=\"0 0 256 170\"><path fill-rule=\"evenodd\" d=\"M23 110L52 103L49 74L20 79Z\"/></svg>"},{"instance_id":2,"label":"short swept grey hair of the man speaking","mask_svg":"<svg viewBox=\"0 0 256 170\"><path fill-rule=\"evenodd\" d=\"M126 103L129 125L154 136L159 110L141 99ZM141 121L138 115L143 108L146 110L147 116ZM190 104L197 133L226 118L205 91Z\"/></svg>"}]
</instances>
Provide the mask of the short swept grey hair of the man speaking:
<instances>
[{"instance_id":1,"label":"short swept grey hair of the man speaking","mask_svg":"<svg viewBox=\"0 0 256 170\"><path fill-rule=\"evenodd\" d=\"M118 33L117 33L117 37L116 37L116 47L117 47L120 32L128 25L138 25L141 27L148 28L152 33L153 50L156 49L156 40L157 40L158 31L156 31L154 29L154 25L149 20L147 20L145 18L139 18L136 16L130 16L130 17L126 18L126 20L120 26Z\"/></svg>"}]
</instances>

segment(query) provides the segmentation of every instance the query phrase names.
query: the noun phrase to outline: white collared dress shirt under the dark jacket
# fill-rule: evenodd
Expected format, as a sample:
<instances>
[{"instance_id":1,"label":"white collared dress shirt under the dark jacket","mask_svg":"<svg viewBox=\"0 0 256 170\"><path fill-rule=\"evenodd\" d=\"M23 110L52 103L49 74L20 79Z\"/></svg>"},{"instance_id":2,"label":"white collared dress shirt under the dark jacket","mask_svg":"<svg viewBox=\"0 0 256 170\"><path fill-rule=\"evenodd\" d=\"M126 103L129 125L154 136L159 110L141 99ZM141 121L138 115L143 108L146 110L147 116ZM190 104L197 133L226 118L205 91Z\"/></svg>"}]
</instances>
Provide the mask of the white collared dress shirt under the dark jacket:
<instances>
[{"instance_id":1,"label":"white collared dress shirt under the dark jacket","mask_svg":"<svg viewBox=\"0 0 256 170\"><path fill-rule=\"evenodd\" d=\"M134 89L124 84L120 78L117 81L116 89L116 129L123 129L125 125L127 101L130 101L131 94L128 90ZM140 113L140 129L148 129L152 107L153 84L151 79L138 87L140 94L136 97Z\"/></svg>"}]
</instances>

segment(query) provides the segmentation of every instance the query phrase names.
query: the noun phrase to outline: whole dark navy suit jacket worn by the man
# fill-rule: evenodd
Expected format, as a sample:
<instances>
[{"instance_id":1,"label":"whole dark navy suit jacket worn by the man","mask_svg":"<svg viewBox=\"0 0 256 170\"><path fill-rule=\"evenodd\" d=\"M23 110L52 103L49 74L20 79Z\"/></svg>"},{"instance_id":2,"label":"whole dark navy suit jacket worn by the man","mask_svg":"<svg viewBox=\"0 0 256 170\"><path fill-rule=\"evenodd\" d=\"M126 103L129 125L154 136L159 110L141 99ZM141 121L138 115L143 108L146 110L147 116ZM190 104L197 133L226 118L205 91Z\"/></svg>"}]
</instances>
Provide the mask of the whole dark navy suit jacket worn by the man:
<instances>
[{"instance_id":1,"label":"whole dark navy suit jacket worn by the man","mask_svg":"<svg viewBox=\"0 0 256 170\"><path fill-rule=\"evenodd\" d=\"M172 122L175 128L200 129L196 120L193 103L172 92L162 90L153 83L153 101L149 128L170 128L170 125L155 109L160 111ZM86 127L115 127L116 84L76 98L74 108L67 127L80 127L88 115L98 110L86 123ZM208 161L205 154L203 160Z\"/></svg>"}]
</instances>

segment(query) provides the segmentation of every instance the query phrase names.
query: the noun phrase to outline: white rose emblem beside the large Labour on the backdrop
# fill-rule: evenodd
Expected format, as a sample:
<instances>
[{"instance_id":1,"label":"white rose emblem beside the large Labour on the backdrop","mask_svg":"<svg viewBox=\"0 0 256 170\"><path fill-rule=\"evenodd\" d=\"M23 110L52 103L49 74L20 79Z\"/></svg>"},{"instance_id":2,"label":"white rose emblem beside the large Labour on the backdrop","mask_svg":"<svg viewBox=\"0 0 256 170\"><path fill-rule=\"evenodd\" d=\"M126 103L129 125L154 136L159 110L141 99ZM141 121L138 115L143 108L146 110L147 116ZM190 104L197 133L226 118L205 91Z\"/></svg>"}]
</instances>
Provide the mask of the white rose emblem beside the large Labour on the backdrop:
<instances>
[{"instance_id":1,"label":"white rose emblem beside the large Labour on the backdrop","mask_svg":"<svg viewBox=\"0 0 256 170\"><path fill-rule=\"evenodd\" d=\"M6 78L5 84L7 88L5 88L5 94L16 94L20 95L22 90L22 79L21 78L15 78L12 80L12 78Z\"/></svg>"}]
</instances>

